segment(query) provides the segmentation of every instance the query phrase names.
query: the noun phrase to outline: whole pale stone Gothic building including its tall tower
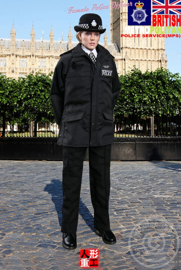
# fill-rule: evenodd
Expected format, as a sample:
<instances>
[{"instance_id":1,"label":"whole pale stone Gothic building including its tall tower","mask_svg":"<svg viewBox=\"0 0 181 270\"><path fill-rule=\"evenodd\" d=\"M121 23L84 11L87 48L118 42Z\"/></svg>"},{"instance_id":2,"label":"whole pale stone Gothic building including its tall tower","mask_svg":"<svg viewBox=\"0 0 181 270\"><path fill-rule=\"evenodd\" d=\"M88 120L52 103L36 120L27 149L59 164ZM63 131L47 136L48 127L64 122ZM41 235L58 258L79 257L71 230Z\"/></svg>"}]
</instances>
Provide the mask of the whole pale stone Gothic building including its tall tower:
<instances>
[{"instance_id":1,"label":"whole pale stone Gothic building including its tall tower","mask_svg":"<svg viewBox=\"0 0 181 270\"><path fill-rule=\"evenodd\" d=\"M132 69L134 66L141 71L167 68L165 56L164 38L125 38L121 37L124 27L127 26L127 7L112 8L110 0L110 32L111 43L108 44L108 36L105 32L104 46L115 57L118 74ZM68 41L63 37L60 41L54 40L51 27L50 39L35 39L34 27L32 27L30 39L16 39L14 24L11 30L11 39L0 38L0 73L7 77L26 77L29 73L40 71L49 74L54 71L59 55L72 49L78 41L72 41L71 28L68 33Z\"/></svg>"}]
</instances>

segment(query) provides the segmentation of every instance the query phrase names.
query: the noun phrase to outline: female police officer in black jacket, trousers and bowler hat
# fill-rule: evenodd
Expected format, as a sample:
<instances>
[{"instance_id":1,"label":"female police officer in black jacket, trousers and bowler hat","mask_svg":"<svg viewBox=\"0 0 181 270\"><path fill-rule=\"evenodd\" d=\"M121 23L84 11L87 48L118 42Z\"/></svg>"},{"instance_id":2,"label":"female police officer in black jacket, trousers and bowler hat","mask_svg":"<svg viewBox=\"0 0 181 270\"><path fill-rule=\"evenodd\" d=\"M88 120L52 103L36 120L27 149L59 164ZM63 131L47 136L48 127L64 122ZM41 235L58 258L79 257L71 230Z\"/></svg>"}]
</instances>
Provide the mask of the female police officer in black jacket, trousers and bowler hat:
<instances>
[{"instance_id":1,"label":"female police officer in black jacket, trousers and bowler hat","mask_svg":"<svg viewBox=\"0 0 181 270\"><path fill-rule=\"evenodd\" d=\"M84 154L89 148L90 194L94 228L107 244L110 230L110 152L114 138L113 109L120 85L109 51L98 44L106 29L97 14L84 14L74 27L81 42L61 55L52 79L51 100L58 144L63 149L63 247L75 249Z\"/></svg>"}]
</instances>

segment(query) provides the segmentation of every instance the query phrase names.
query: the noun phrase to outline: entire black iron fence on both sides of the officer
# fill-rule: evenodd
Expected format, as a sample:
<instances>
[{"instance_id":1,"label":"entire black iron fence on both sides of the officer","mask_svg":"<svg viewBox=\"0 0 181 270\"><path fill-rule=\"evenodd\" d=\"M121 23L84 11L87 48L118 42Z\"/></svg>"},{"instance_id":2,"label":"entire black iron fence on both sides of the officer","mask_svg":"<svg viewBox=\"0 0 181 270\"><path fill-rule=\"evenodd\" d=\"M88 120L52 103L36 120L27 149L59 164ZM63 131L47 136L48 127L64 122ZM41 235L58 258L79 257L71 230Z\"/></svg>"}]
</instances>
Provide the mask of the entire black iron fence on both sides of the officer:
<instances>
[{"instance_id":1,"label":"entire black iron fence on both sides of the officer","mask_svg":"<svg viewBox=\"0 0 181 270\"><path fill-rule=\"evenodd\" d=\"M114 117L115 137L181 136L178 106L119 106ZM1 137L57 137L59 127L52 110L0 107Z\"/></svg>"}]
</instances>

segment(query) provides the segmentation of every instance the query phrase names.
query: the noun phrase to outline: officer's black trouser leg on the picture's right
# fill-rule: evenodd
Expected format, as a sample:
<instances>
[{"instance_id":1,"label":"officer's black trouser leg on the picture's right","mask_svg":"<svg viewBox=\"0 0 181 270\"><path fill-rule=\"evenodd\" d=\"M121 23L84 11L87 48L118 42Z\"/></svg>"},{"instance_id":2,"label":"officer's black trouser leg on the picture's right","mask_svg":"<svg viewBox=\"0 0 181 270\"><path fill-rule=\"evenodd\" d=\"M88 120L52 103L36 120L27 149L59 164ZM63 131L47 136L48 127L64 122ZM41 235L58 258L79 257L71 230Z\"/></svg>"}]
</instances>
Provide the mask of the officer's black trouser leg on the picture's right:
<instances>
[{"instance_id":1,"label":"officer's black trouser leg on the picture's right","mask_svg":"<svg viewBox=\"0 0 181 270\"><path fill-rule=\"evenodd\" d=\"M111 145L89 147L90 194L94 207L94 228L110 229L110 152Z\"/></svg>"}]
</instances>

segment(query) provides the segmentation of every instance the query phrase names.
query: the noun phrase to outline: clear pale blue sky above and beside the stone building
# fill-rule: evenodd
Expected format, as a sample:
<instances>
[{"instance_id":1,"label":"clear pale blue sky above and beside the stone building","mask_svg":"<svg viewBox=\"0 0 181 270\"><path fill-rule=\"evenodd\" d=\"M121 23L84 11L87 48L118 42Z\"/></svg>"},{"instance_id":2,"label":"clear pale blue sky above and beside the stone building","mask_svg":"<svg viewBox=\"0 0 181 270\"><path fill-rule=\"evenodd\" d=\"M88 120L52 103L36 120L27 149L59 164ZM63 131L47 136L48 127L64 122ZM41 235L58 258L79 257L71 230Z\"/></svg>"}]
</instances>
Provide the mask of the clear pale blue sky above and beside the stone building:
<instances>
[{"instance_id":1,"label":"clear pale blue sky above and beside the stone building","mask_svg":"<svg viewBox=\"0 0 181 270\"><path fill-rule=\"evenodd\" d=\"M0 0L0 39L10 38L12 24L16 31L17 39L30 39L32 25L34 26L35 39L49 40L51 26L54 32L54 40L68 40L68 32L71 27L73 41L75 37L74 26L78 25L79 18L85 13L97 13L103 21L103 28L106 28L108 43L110 43L110 1L109 0ZM114 0L116 1L116 0ZM117 2L117 1L116 1ZM127 3L127 0L125 0ZM103 5L102 5L103 4ZM109 7L96 10L99 6ZM72 13L70 8L82 9L83 12ZM94 9L93 9L94 8ZM87 10L88 9L88 10ZM93 10L92 10L93 9ZM84 11L87 10L87 11ZM104 35L104 34L103 34ZM100 41L103 42L103 35ZM165 39L165 54L167 54L167 68L172 73L179 73L181 76L181 38Z\"/></svg>"}]
</instances>

